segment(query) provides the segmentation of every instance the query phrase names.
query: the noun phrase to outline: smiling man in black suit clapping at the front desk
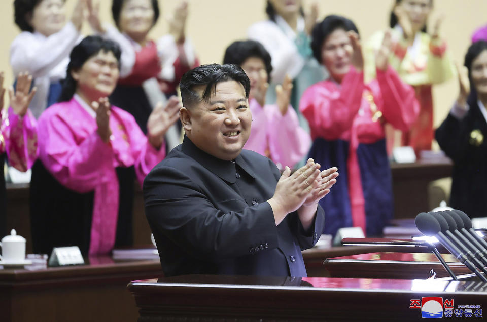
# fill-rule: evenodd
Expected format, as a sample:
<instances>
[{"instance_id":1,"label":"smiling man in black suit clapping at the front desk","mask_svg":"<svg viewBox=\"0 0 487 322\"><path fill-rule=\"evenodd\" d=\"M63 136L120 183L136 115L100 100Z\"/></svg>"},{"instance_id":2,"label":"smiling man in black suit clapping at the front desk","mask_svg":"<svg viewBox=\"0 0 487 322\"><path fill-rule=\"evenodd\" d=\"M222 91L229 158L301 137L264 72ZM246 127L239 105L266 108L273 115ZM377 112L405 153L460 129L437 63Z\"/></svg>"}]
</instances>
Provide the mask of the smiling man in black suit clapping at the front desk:
<instances>
[{"instance_id":1,"label":"smiling man in black suit clapping at the front desk","mask_svg":"<svg viewBox=\"0 0 487 322\"><path fill-rule=\"evenodd\" d=\"M242 150L250 81L237 65L202 65L181 79L183 143L144 181L146 215L166 276L306 276L301 250L323 231L318 200L338 176L309 159L281 175Z\"/></svg>"}]
</instances>

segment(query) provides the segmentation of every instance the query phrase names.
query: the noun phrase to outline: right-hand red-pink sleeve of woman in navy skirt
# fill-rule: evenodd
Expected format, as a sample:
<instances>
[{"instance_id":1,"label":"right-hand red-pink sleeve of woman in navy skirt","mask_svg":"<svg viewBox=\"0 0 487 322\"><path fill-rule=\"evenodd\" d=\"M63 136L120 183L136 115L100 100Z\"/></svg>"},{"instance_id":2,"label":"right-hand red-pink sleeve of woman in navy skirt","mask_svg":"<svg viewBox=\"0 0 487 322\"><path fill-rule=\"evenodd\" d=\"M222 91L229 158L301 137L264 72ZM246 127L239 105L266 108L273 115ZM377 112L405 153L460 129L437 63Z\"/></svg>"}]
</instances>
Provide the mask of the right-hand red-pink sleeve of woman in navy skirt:
<instances>
[{"instance_id":1,"label":"right-hand red-pink sleeve of woman in navy skirt","mask_svg":"<svg viewBox=\"0 0 487 322\"><path fill-rule=\"evenodd\" d=\"M385 71L376 70L377 83L382 95L379 107L387 122L396 129L407 131L420 113L420 104L414 89L404 82L391 66Z\"/></svg>"}]
</instances>

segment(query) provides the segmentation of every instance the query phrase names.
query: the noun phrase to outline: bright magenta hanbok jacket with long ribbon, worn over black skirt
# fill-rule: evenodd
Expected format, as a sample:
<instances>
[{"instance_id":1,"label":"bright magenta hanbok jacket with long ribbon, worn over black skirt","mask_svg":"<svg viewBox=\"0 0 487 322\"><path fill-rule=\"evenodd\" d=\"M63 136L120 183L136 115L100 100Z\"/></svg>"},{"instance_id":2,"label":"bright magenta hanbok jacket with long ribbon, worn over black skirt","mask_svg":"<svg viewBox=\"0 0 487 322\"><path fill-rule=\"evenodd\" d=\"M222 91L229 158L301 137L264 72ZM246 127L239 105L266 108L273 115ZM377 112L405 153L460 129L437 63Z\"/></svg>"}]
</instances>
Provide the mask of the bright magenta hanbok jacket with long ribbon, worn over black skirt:
<instances>
[{"instance_id":1,"label":"bright magenta hanbok jacket with long ribbon, worn over black skirt","mask_svg":"<svg viewBox=\"0 0 487 322\"><path fill-rule=\"evenodd\" d=\"M110 142L96 132L96 114L79 97L49 107L39 119L39 158L60 184L78 193L94 191L89 254L105 254L115 245L119 182L115 168L134 166L142 183L165 157L156 150L135 119L112 106ZM65 214L69 216L69 214Z\"/></svg>"}]
</instances>

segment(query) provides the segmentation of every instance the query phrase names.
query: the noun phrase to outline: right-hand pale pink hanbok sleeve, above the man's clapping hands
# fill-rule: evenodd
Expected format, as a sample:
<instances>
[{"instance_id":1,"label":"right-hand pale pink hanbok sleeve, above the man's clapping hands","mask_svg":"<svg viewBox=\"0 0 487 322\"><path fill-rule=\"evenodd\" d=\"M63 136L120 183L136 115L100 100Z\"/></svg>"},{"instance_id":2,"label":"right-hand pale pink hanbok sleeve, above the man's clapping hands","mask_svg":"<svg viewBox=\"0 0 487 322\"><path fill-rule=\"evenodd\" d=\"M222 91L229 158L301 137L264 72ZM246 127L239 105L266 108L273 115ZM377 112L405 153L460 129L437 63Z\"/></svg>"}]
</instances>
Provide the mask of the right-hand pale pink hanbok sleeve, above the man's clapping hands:
<instances>
[{"instance_id":1,"label":"right-hand pale pink hanbok sleeve, above the man's clapping hands","mask_svg":"<svg viewBox=\"0 0 487 322\"><path fill-rule=\"evenodd\" d=\"M289 105L286 114L282 114L277 105L266 105L268 143L272 161L285 166L293 167L308 153L311 146L311 137L299 125L298 115Z\"/></svg>"}]
</instances>

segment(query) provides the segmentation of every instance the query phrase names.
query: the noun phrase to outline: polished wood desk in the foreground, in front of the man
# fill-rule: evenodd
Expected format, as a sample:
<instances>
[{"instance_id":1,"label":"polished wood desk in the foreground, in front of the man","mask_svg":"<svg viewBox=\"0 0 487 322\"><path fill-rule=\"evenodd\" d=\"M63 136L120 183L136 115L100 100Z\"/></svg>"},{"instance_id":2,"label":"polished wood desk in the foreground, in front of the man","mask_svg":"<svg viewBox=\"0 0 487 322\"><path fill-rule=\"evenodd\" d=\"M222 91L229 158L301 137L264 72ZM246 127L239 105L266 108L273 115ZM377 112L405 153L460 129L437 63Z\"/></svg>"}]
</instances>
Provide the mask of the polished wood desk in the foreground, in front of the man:
<instances>
[{"instance_id":1,"label":"polished wood desk in the foreground, in front of the man","mask_svg":"<svg viewBox=\"0 0 487 322\"><path fill-rule=\"evenodd\" d=\"M487 283L474 281L186 275L133 281L128 290L138 322L415 321L421 310L409 308L411 299L426 296L487 313Z\"/></svg>"}]
</instances>

